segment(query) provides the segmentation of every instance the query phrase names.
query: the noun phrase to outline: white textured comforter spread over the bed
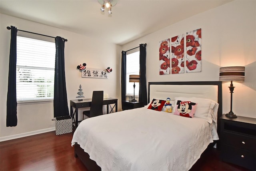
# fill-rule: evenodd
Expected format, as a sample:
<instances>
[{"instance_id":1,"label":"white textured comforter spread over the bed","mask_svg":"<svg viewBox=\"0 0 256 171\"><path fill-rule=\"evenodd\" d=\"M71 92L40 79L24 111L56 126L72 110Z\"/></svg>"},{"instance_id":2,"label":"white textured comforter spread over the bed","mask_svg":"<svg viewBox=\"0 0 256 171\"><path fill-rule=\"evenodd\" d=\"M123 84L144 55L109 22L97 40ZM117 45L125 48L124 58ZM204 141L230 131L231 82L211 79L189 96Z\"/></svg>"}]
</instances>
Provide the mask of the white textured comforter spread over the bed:
<instances>
[{"instance_id":1,"label":"white textured comforter spread over the bed","mask_svg":"<svg viewBox=\"0 0 256 171\"><path fill-rule=\"evenodd\" d=\"M204 119L142 107L85 119L71 143L102 171L185 171L213 139Z\"/></svg>"}]
</instances>

